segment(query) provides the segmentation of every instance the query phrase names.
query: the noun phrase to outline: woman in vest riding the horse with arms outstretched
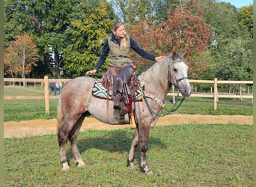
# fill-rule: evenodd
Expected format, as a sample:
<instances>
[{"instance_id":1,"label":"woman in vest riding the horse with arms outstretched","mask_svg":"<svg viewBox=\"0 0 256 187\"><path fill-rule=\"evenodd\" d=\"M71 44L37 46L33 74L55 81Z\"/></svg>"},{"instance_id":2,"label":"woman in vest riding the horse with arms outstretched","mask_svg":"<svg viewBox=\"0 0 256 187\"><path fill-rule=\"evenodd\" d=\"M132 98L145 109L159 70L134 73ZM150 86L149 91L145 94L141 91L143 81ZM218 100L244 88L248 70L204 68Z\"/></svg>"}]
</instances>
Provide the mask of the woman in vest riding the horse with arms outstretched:
<instances>
[{"instance_id":1,"label":"woman in vest riding the horse with arms outstretched","mask_svg":"<svg viewBox=\"0 0 256 187\"><path fill-rule=\"evenodd\" d=\"M132 37L126 34L124 24L122 22L115 22L113 32L104 43L100 59L97 61L94 70L86 72L86 75L96 73L109 55L109 69L103 75L103 82L106 85L112 85L114 89L114 114L116 117L127 113L127 110L121 105L121 99L123 98L126 103L128 102L127 98L125 98L125 88L129 84L134 72L132 60L130 59L131 49L137 52L138 55L141 55L141 57L151 61L161 61L165 58L165 56L156 57L145 52Z\"/></svg>"}]
</instances>

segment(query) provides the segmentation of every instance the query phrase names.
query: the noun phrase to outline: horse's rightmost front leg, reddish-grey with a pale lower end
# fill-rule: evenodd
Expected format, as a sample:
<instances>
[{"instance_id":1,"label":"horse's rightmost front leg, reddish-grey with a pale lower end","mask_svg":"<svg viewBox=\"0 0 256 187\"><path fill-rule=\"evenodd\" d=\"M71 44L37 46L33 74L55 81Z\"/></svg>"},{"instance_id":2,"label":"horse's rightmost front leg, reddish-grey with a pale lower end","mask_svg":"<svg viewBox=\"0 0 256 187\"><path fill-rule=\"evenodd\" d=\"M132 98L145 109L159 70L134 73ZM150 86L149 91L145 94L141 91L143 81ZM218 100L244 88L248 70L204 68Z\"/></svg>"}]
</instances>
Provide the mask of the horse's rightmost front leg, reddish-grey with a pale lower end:
<instances>
[{"instance_id":1,"label":"horse's rightmost front leg, reddish-grey with a pale lower end","mask_svg":"<svg viewBox=\"0 0 256 187\"><path fill-rule=\"evenodd\" d=\"M147 138L150 132L150 123L147 124L141 124L138 126L138 141L139 146L141 147L141 167L143 168L145 174L151 175L153 174L152 171L150 171L150 168L147 165Z\"/></svg>"}]
</instances>

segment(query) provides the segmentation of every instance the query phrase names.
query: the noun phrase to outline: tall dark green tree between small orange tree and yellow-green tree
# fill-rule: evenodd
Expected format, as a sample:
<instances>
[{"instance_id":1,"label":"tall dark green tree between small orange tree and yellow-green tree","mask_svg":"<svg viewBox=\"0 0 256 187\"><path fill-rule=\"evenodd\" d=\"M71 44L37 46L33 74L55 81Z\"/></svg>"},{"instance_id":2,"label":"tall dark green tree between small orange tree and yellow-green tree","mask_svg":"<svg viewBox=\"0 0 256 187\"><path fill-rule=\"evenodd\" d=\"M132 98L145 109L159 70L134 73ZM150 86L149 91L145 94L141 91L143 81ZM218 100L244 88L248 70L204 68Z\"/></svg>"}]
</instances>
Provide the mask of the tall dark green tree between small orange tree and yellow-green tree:
<instances>
[{"instance_id":1,"label":"tall dark green tree between small orange tree and yellow-green tree","mask_svg":"<svg viewBox=\"0 0 256 187\"><path fill-rule=\"evenodd\" d=\"M67 46L67 36L64 34L70 27L68 16L74 1L27 1L30 30L37 36L37 45L43 61L37 73L45 70L54 77L60 77L63 64L62 52ZM43 72L45 72L43 70Z\"/></svg>"}]
</instances>

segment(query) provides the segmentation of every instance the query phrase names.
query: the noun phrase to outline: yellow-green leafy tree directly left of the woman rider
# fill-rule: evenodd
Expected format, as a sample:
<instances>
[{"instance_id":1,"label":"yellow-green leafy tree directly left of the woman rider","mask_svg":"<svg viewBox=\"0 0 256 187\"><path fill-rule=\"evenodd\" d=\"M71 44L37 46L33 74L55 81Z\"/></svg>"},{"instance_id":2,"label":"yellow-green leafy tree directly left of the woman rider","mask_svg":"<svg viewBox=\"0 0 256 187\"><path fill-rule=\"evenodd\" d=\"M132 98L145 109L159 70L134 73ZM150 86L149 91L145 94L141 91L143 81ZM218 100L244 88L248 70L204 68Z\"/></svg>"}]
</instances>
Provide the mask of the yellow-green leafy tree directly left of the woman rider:
<instances>
[{"instance_id":1,"label":"yellow-green leafy tree directly left of the woman rider","mask_svg":"<svg viewBox=\"0 0 256 187\"><path fill-rule=\"evenodd\" d=\"M94 4L88 3L88 9ZM64 49L64 72L67 76L84 76L86 71L94 69L103 43L112 31L113 19L109 19L107 4L100 1L99 7L91 14L82 14L81 19L71 22L67 34L71 42ZM106 64L103 70L106 70ZM94 76L100 76L99 73Z\"/></svg>"}]
</instances>

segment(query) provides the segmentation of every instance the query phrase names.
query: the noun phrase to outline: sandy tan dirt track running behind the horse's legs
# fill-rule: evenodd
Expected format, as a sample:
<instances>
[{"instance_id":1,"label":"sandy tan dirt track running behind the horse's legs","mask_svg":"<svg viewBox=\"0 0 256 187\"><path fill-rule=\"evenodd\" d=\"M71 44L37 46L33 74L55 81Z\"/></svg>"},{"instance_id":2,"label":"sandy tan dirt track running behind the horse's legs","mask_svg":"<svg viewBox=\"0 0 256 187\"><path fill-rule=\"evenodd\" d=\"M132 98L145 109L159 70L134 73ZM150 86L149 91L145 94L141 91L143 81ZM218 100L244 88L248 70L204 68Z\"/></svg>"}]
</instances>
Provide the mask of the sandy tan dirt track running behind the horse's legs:
<instances>
[{"instance_id":1,"label":"sandy tan dirt track running behind the horse's legs","mask_svg":"<svg viewBox=\"0 0 256 187\"><path fill-rule=\"evenodd\" d=\"M200 115L200 114L171 114L160 117L152 126L168 126L181 124L204 124L204 123L234 123L234 124L253 124L253 116L243 115ZM56 134L57 120L22 120L4 122L4 138L23 138L35 135ZM87 129L91 130L111 130L129 128L129 125L109 125L102 123L95 118L86 118L82 123L80 132Z\"/></svg>"}]
</instances>

